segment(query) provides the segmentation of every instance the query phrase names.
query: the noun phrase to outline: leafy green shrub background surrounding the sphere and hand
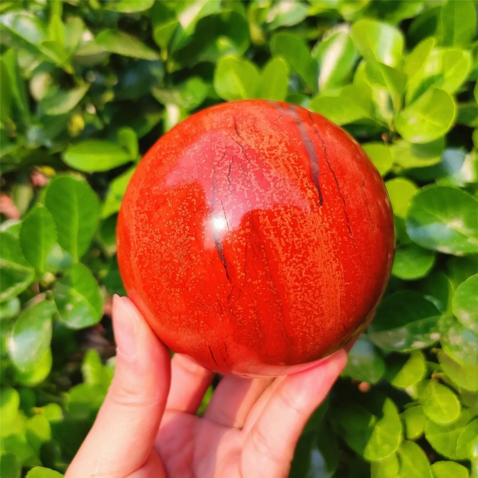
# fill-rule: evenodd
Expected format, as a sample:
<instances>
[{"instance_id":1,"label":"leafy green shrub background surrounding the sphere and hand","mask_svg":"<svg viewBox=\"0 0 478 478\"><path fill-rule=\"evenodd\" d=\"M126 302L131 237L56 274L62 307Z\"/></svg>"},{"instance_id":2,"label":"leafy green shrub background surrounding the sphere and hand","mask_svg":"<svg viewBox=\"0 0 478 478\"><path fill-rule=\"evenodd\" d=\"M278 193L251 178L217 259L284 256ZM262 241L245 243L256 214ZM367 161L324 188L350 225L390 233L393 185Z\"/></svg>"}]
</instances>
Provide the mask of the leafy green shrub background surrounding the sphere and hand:
<instances>
[{"instance_id":1,"label":"leafy green shrub background surrounding the sphere and hand","mask_svg":"<svg viewBox=\"0 0 478 478\"><path fill-rule=\"evenodd\" d=\"M198 109L269 98L360 141L397 231L385 298L291 476L477 478L476 9L3 0L1 477L61 476L105 396L116 216L141 155Z\"/></svg>"}]
</instances>

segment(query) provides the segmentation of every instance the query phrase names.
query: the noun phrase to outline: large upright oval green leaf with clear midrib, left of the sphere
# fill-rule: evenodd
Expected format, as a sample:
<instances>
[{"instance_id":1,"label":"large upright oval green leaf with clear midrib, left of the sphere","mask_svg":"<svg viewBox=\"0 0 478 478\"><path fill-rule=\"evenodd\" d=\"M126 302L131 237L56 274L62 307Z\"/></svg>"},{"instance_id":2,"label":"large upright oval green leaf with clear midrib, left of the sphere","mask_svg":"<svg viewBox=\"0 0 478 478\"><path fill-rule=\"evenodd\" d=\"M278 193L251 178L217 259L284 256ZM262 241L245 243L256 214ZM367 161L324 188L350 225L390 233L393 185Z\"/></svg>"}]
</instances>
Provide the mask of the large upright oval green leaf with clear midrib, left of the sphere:
<instances>
[{"instance_id":1,"label":"large upright oval green leaf with clear midrib, left of the sphere","mask_svg":"<svg viewBox=\"0 0 478 478\"><path fill-rule=\"evenodd\" d=\"M56 223L60 246L78 260L98 227L98 197L87 183L58 176L46 190L45 206Z\"/></svg>"}]
</instances>

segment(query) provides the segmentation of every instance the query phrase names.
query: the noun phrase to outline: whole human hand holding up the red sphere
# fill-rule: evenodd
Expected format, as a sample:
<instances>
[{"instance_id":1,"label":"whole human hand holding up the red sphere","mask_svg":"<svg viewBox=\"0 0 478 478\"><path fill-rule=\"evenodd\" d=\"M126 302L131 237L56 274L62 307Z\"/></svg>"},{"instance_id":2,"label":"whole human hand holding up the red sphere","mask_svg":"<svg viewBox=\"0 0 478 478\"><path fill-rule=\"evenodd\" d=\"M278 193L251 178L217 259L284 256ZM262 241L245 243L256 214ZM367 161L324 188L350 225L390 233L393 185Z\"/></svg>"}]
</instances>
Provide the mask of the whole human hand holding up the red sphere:
<instances>
[{"instance_id":1,"label":"whole human hand holding up the red sphere","mask_svg":"<svg viewBox=\"0 0 478 478\"><path fill-rule=\"evenodd\" d=\"M283 478L295 444L344 368L339 350L275 379L224 377L202 418L214 373L171 360L133 303L113 299L118 353L105 402L65 478Z\"/></svg>"}]
</instances>

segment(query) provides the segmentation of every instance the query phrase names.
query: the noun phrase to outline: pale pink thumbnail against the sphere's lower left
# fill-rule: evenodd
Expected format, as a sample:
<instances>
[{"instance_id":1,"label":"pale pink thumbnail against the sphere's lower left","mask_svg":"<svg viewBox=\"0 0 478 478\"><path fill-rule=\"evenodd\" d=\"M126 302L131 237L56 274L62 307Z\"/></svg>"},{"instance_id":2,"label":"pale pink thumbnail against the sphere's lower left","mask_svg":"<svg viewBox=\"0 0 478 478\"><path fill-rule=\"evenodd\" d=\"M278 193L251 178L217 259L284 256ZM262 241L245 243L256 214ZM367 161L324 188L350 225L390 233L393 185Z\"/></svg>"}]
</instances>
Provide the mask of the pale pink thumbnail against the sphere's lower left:
<instances>
[{"instance_id":1,"label":"pale pink thumbnail against the sphere's lower left","mask_svg":"<svg viewBox=\"0 0 478 478\"><path fill-rule=\"evenodd\" d=\"M138 348L138 314L131 307L129 299L113 296L113 328L117 352L134 359Z\"/></svg>"}]
</instances>

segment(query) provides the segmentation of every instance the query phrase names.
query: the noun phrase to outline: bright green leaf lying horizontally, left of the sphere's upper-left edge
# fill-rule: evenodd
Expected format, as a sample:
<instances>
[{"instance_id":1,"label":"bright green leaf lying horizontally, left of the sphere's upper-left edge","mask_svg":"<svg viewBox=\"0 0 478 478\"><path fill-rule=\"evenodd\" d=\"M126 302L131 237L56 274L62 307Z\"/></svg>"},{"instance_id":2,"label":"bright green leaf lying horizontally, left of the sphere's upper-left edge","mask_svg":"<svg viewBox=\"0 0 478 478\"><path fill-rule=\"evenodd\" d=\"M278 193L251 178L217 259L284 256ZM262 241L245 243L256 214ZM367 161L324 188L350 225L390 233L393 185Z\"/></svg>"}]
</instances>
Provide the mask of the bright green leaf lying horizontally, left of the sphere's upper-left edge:
<instances>
[{"instance_id":1,"label":"bright green leaf lying horizontally, left of the sphere's upper-left edge","mask_svg":"<svg viewBox=\"0 0 478 478\"><path fill-rule=\"evenodd\" d=\"M106 140L90 139L72 144L64 153L63 161L87 173L108 171L133 159L118 144Z\"/></svg>"}]
</instances>

